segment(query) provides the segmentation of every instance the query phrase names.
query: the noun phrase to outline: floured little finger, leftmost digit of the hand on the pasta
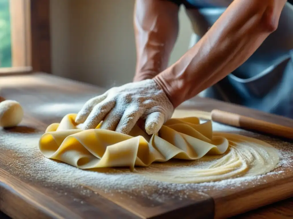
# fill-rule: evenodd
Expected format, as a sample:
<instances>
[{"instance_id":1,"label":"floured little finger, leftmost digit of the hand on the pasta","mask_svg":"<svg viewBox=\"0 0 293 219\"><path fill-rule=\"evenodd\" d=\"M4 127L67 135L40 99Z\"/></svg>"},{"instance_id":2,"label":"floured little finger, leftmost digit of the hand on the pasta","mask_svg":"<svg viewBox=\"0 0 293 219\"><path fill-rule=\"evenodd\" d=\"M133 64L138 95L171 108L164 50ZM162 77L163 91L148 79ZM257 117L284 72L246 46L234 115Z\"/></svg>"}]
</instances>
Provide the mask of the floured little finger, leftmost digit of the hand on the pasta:
<instances>
[{"instance_id":1,"label":"floured little finger, leftmost digit of the hand on the pasta","mask_svg":"<svg viewBox=\"0 0 293 219\"><path fill-rule=\"evenodd\" d=\"M79 111L79 113L76 115L76 118L75 118L75 122L77 124L80 124L80 123L84 123L84 121L86 121L86 118L88 117L88 115L91 113L91 111L93 110L93 107L95 107L98 103L102 102L103 100L106 99L108 95L108 92L100 95L100 96L97 96L97 97L94 97L94 98L91 98L90 100L88 100L84 106L81 108L81 110Z\"/></svg>"}]
</instances>

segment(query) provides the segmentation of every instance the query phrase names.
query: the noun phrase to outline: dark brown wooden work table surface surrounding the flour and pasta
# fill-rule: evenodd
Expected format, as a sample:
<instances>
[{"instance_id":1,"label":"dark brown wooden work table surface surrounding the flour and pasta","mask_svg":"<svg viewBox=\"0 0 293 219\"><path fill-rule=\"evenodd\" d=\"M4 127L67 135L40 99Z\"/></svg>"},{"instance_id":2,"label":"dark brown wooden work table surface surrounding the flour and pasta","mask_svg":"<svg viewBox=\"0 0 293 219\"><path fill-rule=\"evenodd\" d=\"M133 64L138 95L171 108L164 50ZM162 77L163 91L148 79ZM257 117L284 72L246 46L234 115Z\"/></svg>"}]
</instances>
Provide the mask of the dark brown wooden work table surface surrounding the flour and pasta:
<instances>
[{"instance_id":1,"label":"dark brown wooden work table surface surrounding the flour and pasta","mask_svg":"<svg viewBox=\"0 0 293 219\"><path fill-rule=\"evenodd\" d=\"M0 96L21 102L25 110L21 126L0 130L0 135L7 135L7 131L24 134L43 132L49 124L59 122L65 114L78 110L72 102L79 108L79 102L103 92L94 86L45 74L4 77L0 78L0 84ZM63 111L58 115L43 115L35 110L36 107L46 107L48 104L63 106ZM193 115L195 109L211 111L217 108L293 126L290 119L219 101L195 98L188 107L186 104L180 106L181 109L179 107L175 117ZM249 134L246 131L235 131ZM166 191L159 187L149 186L132 191L113 188L113 192L107 193L87 185L64 187L40 179L37 175L28 177L27 170L11 162L20 156L0 142L0 210L13 218L226 218L286 199L293 194L293 170L289 167L275 170L283 171L281 174L267 175L257 181L244 185L237 183L220 190L202 186L200 190L168 191L169 195L166 195ZM77 179L72 178L74 180ZM89 191L86 194L83 192L85 187ZM146 196L146 191L151 194ZM164 200L150 199L151 196L162 196Z\"/></svg>"}]
</instances>

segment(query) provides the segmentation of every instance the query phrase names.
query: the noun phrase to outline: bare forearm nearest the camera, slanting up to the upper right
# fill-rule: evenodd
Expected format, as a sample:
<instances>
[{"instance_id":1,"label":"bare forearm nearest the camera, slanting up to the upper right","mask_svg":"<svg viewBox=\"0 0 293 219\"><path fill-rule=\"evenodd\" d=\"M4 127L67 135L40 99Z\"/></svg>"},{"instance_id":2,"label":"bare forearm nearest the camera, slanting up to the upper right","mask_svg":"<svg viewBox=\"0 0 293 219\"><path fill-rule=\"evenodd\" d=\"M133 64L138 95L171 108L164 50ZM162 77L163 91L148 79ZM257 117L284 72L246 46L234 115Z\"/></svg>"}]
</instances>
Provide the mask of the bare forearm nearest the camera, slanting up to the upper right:
<instances>
[{"instance_id":1,"label":"bare forearm nearest the camera, slanting up to the upper right","mask_svg":"<svg viewBox=\"0 0 293 219\"><path fill-rule=\"evenodd\" d=\"M193 48L154 78L174 107L243 64L275 30L285 3L234 0Z\"/></svg>"}]
</instances>

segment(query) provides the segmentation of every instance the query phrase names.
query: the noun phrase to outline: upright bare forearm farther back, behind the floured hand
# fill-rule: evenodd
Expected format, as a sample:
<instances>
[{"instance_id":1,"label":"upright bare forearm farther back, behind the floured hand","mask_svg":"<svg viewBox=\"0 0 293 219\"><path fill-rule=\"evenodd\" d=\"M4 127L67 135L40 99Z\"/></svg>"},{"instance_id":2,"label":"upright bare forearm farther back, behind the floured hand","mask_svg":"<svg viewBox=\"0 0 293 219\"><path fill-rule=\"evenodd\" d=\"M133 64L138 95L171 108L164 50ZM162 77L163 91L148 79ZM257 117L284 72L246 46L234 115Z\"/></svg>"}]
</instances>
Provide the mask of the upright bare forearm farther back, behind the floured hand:
<instances>
[{"instance_id":1,"label":"upright bare forearm farther back, behind the floured hand","mask_svg":"<svg viewBox=\"0 0 293 219\"><path fill-rule=\"evenodd\" d=\"M151 79L168 66L178 36L179 7L165 0L137 0L134 34L137 64L134 81Z\"/></svg>"}]
</instances>

